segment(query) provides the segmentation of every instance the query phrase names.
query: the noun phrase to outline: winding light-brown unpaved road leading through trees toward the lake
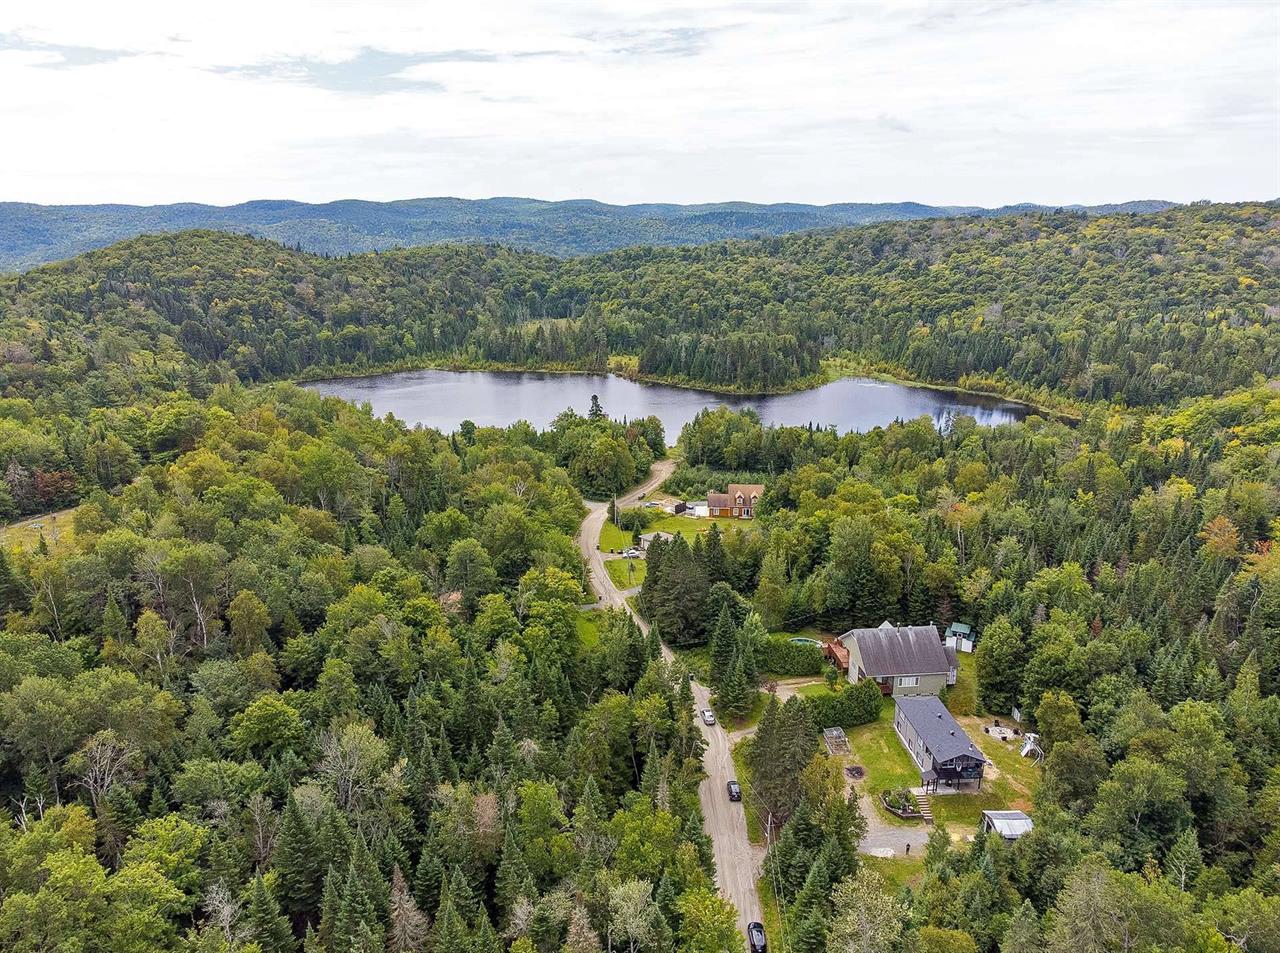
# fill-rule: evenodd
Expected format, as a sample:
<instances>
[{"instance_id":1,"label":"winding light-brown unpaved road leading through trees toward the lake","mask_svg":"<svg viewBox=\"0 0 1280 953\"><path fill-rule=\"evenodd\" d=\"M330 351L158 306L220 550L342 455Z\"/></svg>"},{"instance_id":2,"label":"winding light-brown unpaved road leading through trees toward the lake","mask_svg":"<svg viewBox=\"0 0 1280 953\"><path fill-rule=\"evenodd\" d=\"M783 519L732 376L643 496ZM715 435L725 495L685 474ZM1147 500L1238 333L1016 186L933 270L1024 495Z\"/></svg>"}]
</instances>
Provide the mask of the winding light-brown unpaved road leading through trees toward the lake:
<instances>
[{"instance_id":1,"label":"winding light-brown unpaved road leading through trees toward the lake","mask_svg":"<svg viewBox=\"0 0 1280 953\"><path fill-rule=\"evenodd\" d=\"M649 478L626 496L618 498L618 507L634 507L640 498L652 492L671 476L675 468L673 461L658 461L650 472ZM591 569L591 585L599 595L602 606L626 609L625 594L631 590L618 590L604 569L604 556L596 547L600 539L600 527L609 516L607 503L588 503L586 519L579 531L577 545ZM635 613L631 613L636 623L645 632L649 624ZM663 646L663 655L669 660L671 650ZM694 705L700 710L710 707L710 689L698 682L694 683ZM728 799L727 784L737 776L733 769L732 743L741 733L732 738L718 724L708 728L699 721L703 734L707 738L707 753L703 757L703 766L707 778L698 789L699 799L703 805L703 820L707 834L712 839L716 855L716 881L721 894L737 910L737 927L746 935L746 925L753 920L762 920L760 895L756 893L755 881L760 876L760 863L764 860L764 849L753 847L746 834L746 815L741 803Z\"/></svg>"}]
</instances>

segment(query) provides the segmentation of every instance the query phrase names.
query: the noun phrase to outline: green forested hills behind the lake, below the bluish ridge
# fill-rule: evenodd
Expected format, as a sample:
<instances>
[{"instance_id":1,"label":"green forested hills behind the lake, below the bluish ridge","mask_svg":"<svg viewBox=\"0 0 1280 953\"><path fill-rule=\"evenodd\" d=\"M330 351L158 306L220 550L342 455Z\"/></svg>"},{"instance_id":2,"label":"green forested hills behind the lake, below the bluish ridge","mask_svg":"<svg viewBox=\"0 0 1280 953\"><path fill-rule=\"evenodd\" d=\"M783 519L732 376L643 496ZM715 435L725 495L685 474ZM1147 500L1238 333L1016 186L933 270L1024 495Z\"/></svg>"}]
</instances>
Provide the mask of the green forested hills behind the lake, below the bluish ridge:
<instances>
[{"instance_id":1,"label":"green forested hills behind the lake, below the bluish ridge","mask_svg":"<svg viewBox=\"0 0 1280 953\"><path fill-rule=\"evenodd\" d=\"M442 359L740 390L847 356L1015 397L1167 403L1280 374L1280 206L891 223L556 260L324 258L211 232L0 279L0 385L59 407Z\"/></svg>"}]
</instances>

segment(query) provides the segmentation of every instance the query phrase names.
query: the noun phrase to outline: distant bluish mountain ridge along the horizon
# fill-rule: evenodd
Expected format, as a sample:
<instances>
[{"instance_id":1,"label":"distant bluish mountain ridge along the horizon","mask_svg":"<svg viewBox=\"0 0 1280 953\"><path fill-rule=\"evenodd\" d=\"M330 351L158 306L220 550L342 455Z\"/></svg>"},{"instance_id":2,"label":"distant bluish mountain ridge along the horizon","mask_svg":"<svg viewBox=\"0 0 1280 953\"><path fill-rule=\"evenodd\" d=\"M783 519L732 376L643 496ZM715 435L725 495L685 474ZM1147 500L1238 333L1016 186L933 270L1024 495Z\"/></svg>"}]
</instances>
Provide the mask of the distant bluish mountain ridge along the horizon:
<instances>
[{"instance_id":1,"label":"distant bluish mountain ridge along the horizon","mask_svg":"<svg viewBox=\"0 0 1280 953\"><path fill-rule=\"evenodd\" d=\"M1164 211L1175 202L1146 200L1068 206L1091 215ZM636 244L701 244L726 238L781 235L877 221L997 216L1052 211L919 202L716 202L607 205L593 200L407 198L308 203L261 200L232 206L31 205L0 202L0 271L20 271L155 232L219 229L270 238L320 255L347 255L436 242L498 242L557 256Z\"/></svg>"}]
</instances>

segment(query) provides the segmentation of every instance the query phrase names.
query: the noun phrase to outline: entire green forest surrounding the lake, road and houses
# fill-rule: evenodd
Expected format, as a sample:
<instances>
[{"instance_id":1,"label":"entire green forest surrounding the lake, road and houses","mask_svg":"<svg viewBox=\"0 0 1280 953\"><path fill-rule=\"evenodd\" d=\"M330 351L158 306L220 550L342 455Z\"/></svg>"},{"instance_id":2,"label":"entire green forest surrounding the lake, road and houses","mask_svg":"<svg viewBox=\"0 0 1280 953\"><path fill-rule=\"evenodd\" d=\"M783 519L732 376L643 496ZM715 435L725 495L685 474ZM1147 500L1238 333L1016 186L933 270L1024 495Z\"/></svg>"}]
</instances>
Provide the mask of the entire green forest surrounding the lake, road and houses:
<instances>
[{"instance_id":1,"label":"entire green forest surrounding the lake, road and houses","mask_svg":"<svg viewBox=\"0 0 1280 953\"><path fill-rule=\"evenodd\" d=\"M769 632L884 618L974 624L948 701L1039 733L1036 829L940 825L891 885L818 732L878 698L771 700L742 770L788 950L1280 949L1276 230L1198 206L563 262L197 232L0 280L0 512L76 505L0 547L0 949L740 950L687 652L745 715L822 665ZM745 388L852 356L1080 414L704 412L668 486L765 494L655 545L645 634L580 610L573 535L667 454L657 418L442 435L273 382L618 356Z\"/></svg>"}]
</instances>

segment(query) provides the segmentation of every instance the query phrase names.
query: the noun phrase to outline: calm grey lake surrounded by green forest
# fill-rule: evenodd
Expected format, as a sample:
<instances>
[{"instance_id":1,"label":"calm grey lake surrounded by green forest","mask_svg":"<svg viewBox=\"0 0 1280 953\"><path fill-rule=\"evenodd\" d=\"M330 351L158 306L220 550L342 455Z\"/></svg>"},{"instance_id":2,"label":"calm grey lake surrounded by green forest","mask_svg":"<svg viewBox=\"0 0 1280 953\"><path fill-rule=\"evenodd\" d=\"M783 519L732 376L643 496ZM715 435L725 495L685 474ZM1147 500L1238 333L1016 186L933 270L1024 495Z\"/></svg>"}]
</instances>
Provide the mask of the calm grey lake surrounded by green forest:
<instances>
[{"instance_id":1,"label":"calm grey lake surrounded by green forest","mask_svg":"<svg viewBox=\"0 0 1280 953\"><path fill-rule=\"evenodd\" d=\"M451 432L463 420L507 426L525 420L541 430L566 407L585 414L591 394L614 420L657 414L675 443L680 429L704 407L751 407L765 423L836 425L840 432L870 430L928 414L937 422L969 414L995 426L1027 416L1023 404L908 386L865 377L841 377L813 390L769 397L736 397L704 390L637 384L613 375L530 371L404 371L372 377L311 381L303 386L326 397L369 403L374 413L393 413L407 423Z\"/></svg>"}]
</instances>

